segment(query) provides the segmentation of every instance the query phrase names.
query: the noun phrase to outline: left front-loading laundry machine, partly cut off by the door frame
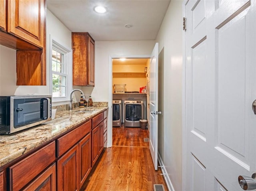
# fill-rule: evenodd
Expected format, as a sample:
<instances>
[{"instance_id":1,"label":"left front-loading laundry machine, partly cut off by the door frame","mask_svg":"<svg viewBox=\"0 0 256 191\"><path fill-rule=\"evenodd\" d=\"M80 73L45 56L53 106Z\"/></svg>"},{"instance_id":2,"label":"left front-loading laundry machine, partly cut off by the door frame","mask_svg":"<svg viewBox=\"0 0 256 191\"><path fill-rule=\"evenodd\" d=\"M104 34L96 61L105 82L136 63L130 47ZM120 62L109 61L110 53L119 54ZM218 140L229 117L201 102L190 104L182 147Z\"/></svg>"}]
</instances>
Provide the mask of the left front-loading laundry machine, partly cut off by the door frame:
<instances>
[{"instance_id":1,"label":"left front-loading laundry machine, partly cut off by the door frame","mask_svg":"<svg viewBox=\"0 0 256 191\"><path fill-rule=\"evenodd\" d=\"M121 127L122 121L122 100L112 101L112 126Z\"/></svg>"}]
</instances>

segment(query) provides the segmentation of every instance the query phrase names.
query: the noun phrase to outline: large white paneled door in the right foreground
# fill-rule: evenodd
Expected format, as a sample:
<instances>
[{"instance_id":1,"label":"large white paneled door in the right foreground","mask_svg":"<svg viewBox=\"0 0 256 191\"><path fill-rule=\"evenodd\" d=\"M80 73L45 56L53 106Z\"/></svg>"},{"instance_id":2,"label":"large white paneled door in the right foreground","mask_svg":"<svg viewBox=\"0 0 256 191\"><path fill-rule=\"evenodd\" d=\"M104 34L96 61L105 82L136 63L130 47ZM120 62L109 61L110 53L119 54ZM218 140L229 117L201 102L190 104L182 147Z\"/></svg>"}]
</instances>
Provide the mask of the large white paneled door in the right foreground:
<instances>
[{"instance_id":1,"label":"large white paneled door in the right foreground","mask_svg":"<svg viewBox=\"0 0 256 191\"><path fill-rule=\"evenodd\" d=\"M186 0L184 13L183 190L241 191L256 172L256 0Z\"/></svg>"}]
</instances>

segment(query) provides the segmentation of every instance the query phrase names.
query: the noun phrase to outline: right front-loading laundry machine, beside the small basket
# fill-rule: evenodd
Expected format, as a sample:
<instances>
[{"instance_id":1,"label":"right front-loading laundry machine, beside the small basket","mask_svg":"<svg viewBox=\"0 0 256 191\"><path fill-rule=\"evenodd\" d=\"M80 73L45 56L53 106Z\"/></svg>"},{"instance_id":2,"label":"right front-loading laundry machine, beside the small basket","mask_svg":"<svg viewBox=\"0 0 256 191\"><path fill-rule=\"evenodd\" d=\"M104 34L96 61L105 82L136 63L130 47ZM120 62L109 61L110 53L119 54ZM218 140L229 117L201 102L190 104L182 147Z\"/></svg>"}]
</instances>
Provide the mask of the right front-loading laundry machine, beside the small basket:
<instances>
[{"instance_id":1,"label":"right front-loading laundry machine, beside the small basket","mask_svg":"<svg viewBox=\"0 0 256 191\"><path fill-rule=\"evenodd\" d=\"M140 127L142 116L142 100L124 100L124 127Z\"/></svg>"}]
</instances>

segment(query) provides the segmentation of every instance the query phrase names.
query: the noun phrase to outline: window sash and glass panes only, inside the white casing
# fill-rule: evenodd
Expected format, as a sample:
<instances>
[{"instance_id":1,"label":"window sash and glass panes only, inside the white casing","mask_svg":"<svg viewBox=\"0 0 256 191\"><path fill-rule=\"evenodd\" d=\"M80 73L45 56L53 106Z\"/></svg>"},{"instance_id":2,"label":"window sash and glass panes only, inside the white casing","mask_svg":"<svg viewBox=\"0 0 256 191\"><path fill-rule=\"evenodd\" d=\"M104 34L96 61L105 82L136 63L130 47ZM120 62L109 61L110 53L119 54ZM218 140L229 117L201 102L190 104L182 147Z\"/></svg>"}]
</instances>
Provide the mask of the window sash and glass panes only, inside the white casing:
<instances>
[{"instance_id":1,"label":"window sash and glass panes only, inside the white casing","mask_svg":"<svg viewBox=\"0 0 256 191\"><path fill-rule=\"evenodd\" d=\"M66 97L66 68L64 54L52 48L52 96Z\"/></svg>"}]
</instances>

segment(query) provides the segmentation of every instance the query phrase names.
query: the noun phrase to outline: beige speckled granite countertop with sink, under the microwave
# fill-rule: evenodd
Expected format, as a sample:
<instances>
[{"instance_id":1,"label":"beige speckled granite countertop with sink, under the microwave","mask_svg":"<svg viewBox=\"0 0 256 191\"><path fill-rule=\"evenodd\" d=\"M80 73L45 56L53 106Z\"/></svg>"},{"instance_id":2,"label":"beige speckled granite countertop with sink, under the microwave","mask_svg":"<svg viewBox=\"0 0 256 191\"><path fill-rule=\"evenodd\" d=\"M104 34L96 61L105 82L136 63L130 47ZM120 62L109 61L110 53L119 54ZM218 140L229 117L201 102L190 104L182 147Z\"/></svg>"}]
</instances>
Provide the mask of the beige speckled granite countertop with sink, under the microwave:
<instances>
[{"instance_id":1,"label":"beige speckled granite countertop with sink, under the microwave","mask_svg":"<svg viewBox=\"0 0 256 191\"><path fill-rule=\"evenodd\" d=\"M10 161L102 112L107 106L58 111L54 120L10 135L0 135L0 171ZM86 110L86 112L79 112Z\"/></svg>"}]
</instances>

